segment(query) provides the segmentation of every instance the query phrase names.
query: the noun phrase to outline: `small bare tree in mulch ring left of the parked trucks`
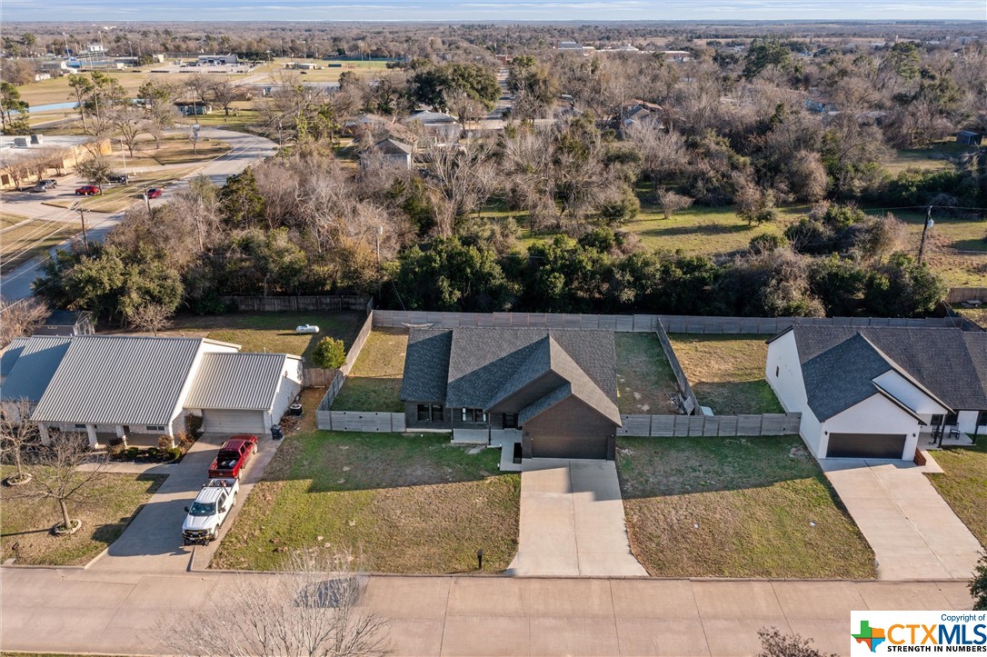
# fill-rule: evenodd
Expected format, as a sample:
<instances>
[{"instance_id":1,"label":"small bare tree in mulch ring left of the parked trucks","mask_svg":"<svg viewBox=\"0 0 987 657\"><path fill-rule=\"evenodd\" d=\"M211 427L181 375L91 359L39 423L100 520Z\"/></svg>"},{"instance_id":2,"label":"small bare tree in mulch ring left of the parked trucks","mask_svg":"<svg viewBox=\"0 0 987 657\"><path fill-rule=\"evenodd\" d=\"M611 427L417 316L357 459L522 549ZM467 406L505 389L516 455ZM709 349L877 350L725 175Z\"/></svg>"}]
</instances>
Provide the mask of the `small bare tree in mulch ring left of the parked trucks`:
<instances>
[{"instance_id":1,"label":"small bare tree in mulch ring left of the parked trucks","mask_svg":"<svg viewBox=\"0 0 987 657\"><path fill-rule=\"evenodd\" d=\"M92 501L92 486L107 473L108 459L109 453L94 458L86 436L54 431L48 435L47 444L32 457L28 472L34 485L24 494L58 504L62 522L52 528L56 534L71 534L82 526L81 520L69 515L68 505ZM89 467L83 469L83 465Z\"/></svg>"}]
</instances>

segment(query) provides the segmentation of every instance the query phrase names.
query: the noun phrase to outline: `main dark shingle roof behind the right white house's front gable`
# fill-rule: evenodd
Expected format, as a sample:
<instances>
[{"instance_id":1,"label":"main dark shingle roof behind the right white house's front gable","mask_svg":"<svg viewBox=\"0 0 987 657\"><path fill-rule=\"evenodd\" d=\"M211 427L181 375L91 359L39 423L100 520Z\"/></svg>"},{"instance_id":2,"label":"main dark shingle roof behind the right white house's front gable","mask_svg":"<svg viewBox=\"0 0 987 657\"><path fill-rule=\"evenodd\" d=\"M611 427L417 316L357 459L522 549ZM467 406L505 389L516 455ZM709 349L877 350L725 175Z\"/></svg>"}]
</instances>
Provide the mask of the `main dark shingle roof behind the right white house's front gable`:
<instances>
[{"instance_id":1,"label":"main dark shingle roof behind the right white house's front gable","mask_svg":"<svg viewBox=\"0 0 987 657\"><path fill-rule=\"evenodd\" d=\"M914 378L954 410L987 409L987 332L906 327L793 330L803 371L808 361L860 334L890 359L895 369Z\"/></svg>"}]
</instances>

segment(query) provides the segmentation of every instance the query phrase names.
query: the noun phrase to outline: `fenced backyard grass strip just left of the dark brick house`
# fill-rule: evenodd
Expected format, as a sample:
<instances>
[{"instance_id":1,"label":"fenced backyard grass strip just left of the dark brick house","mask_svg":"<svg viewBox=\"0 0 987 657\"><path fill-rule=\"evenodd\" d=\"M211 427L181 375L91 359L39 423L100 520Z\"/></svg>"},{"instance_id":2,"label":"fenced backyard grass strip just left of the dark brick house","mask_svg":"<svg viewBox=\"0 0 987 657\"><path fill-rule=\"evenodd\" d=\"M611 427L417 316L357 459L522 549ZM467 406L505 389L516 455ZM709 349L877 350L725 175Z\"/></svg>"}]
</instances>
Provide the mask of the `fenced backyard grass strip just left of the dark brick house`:
<instances>
[{"instance_id":1,"label":"fenced backyard grass strip just left of the dark brick house","mask_svg":"<svg viewBox=\"0 0 987 657\"><path fill-rule=\"evenodd\" d=\"M401 381L408 351L408 329L375 329L333 401L333 410L404 412Z\"/></svg>"}]
</instances>

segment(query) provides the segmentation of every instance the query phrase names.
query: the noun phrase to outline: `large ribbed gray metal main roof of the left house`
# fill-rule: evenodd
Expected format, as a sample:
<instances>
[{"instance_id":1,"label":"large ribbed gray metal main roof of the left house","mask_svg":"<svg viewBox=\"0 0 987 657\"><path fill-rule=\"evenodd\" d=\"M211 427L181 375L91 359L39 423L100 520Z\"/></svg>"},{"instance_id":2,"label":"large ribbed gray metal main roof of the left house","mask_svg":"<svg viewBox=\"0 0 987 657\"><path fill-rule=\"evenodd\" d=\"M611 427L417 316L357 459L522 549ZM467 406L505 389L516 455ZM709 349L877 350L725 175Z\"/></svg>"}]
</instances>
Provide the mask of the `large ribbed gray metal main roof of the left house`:
<instances>
[{"instance_id":1,"label":"large ribbed gray metal main roof of the left house","mask_svg":"<svg viewBox=\"0 0 987 657\"><path fill-rule=\"evenodd\" d=\"M32 417L42 422L167 424L202 341L76 335Z\"/></svg>"}]
</instances>

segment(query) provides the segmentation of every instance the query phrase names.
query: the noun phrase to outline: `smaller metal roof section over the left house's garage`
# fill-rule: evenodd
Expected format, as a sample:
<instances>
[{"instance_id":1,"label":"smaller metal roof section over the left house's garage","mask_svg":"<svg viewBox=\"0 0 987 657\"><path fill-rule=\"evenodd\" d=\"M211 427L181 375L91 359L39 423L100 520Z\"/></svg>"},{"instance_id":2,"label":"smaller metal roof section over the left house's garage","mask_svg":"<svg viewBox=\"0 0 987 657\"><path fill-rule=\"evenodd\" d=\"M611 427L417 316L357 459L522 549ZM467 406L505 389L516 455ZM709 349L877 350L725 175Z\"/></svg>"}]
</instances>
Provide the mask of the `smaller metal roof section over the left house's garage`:
<instances>
[{"instance_id":1,"label":"smaller metal roof section over the left house's garage","mask_svg":"<svg viewBox=\"0 0 987 657\"><path fill-rule=\"evenodd\" d=\"M205 353L187 408L269 410L284 370L283 353Z\"/></svg>"}]
</instances>

